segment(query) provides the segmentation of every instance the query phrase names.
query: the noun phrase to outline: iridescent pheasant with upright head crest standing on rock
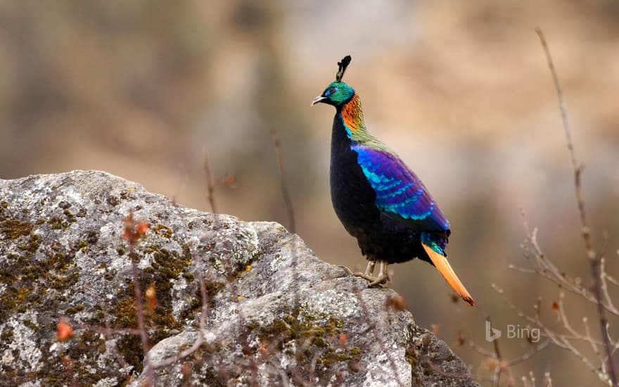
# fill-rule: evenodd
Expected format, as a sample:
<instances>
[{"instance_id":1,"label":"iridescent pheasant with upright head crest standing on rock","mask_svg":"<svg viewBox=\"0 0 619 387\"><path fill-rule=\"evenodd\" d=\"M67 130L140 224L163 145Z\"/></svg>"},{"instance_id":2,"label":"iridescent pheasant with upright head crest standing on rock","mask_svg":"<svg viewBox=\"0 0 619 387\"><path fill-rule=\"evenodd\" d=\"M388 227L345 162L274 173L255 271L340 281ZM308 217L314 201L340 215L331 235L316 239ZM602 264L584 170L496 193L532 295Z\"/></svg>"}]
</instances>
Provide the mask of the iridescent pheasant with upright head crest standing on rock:
<instances>
[{"instance_id":1,"label":"iridescent pheasant with upright head crest standing on rock","mask_svg":"<svg viewBox=\"0 0 619 387\"><path fill-rule=\"evenodd\" d=\"M420 258L434 265L468 305L475 301L447 262L449 221L428 189L385 144L368 133L355 89L342 82L350 56L338 62L336 80L312 101L336 108L331 133L331 201L345 229L357 238L368 265L349 274L385 284L387 265ZM374 265L379 262L378 277Z\"/></svg>"}]
</instances>

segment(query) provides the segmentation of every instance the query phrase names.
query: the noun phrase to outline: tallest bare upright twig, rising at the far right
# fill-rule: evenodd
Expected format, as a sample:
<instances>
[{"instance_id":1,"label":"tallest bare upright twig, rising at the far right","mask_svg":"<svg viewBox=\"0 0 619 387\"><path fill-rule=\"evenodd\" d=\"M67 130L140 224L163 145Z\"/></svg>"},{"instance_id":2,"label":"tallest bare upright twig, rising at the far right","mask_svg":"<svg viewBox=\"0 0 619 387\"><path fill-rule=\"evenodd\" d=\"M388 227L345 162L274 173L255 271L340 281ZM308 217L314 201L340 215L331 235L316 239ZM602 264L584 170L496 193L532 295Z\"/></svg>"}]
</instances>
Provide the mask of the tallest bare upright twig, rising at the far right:
<instances>
[{"instance_id":1,"label":"tallest bare upright twig, rising at the far right","mask_svg":"<svg viewBox=\"0 0 619 387\"><path fill-rule=\"evenodd\" d=\"M552 57L550 55L550 49L548 48L548 44L546 39L544 38L544 33L538 27L535 32L540 37L540 42L542 44L542 48L544 49L544 53L546 54L546 58L548 60L548 67L552 74L552 79L554 81L554 87L556 89L557 98L559 99L559 110L561 110L561 118L563 120L563 129L565 129L566 140L568 143L568 151L570 153L570 160L572 162L572 167L574 170L574 186L575 186L575 194L576 201L578 205L578 213L580 215L580 229L582 233L582 239L585 241L585 249L587 250L587 258L589 259L591 265L591 273L593 279L593 292L597 301L597 313L599 316L599 324L601 329L602 340L604 341L604 350L606 350L606 356L608 357L608 378L610 379L613 386L618 386L617 384L617 376L615 375L615 366L613 364L613 350L610 338L608 338L608 323L606 322L606 313L604 304L602 303L602 290L601 290L601 256L596 254L593 241L591 238L591 233L589 231L589 222L587 220L587 213L585 212L585 201L582 198L582 186L581 186L581 175L582 175L582 165L578 165L576 161L576 156L574 152L574 146L572 143L572 138L570 134L570 126L568 122L568 114L566 109L566 104L563 101L563 91L561 89L561 84L559 83L559 77L556 74L556 70L554 68L554 63L552 62Z\"/></svg>"}]
</instances>

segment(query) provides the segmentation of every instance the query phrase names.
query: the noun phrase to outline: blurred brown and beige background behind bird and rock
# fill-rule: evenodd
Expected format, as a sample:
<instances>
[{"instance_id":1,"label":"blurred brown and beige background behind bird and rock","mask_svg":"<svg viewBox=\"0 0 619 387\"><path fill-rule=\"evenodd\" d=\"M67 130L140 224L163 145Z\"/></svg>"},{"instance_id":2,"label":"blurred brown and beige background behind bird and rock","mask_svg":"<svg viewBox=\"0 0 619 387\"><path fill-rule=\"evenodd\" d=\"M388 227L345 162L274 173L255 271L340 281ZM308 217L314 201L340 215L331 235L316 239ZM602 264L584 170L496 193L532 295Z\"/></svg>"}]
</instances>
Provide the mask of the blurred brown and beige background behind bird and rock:
<instances>
[{"instance_id":1,"label":"blurred brown and beige background behind bird and rock","mask_svg":"<svg viewBox=\"0 0 619 387\"><path fill-rule=\"evenodd\" d=\"M482 310L453 303L438 272L393 266L391 287L416 322L435 325L478 376L492 374L484 313L521 324L556 286L525 266L521 209L547 256L589 281L573 171L556 92L535 34L544 30L563 84L596 246L617 274L619 3L582 1L34 1L0 2L0 178L104 170L178 203L289 226L269 131L281 139L296 231L328 262L365 266L328 188L333 108L309 103L352 55L345 81L366 123L423 179L449 217L449 258ZM615 289L611 289L614 291ZM569 300L569 298L568 298ZM577 328L591 305L566 305ZM593 316L592 316L593 317ZM612 322L612 321L611 321ZM619 324L618 324L619 325ZM595 326L595 332L598 331ZM619 336L619 326L611 325ZM459 345L464 338L464 345ZM531 349L502 338L502 355ZM596 381L546 348L513 367L558 386Z\"/></svg>"}]
</instances>

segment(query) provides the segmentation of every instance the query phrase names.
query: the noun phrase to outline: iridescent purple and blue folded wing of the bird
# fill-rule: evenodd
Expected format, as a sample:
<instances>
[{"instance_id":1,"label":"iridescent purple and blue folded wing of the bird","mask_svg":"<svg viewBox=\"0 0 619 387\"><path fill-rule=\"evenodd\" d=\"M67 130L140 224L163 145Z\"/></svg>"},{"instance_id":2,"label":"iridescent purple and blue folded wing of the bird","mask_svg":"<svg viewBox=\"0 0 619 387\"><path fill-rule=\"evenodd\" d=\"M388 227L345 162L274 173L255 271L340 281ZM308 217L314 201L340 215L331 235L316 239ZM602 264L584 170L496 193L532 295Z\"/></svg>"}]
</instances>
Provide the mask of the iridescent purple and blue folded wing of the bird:
<instances>
[{"instance_id":1,"label":"iridescent purple and blue folded wing of the bird","mask_svg":"<svg viewBox=\"0 0 619 387\"><path fill-rule=\"evenodd\" d=\"M393 153L353 145L357 163L376 192L376 206L417 231L445 231L449 221L421 179Z\"/></svg>"}]
</instances>

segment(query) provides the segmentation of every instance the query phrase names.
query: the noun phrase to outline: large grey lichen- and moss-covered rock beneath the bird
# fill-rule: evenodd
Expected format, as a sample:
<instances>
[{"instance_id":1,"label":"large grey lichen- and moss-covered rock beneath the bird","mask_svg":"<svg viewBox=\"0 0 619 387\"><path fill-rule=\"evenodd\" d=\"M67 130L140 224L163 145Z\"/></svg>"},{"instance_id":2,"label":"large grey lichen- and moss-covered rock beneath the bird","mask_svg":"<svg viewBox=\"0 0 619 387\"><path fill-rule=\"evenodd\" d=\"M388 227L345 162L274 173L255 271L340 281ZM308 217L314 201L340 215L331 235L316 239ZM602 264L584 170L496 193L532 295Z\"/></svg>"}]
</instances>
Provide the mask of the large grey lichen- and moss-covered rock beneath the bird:
<instances>
[{"instance_id":1,"label":"large grey lichen- and moss-covered rock beneath the bird","mask_svg":"<svg viewBox=\"0 0 619 387\"><path fill-rule=\"evenodd\" d=\"M150 225L133 246L142 295L156 293L143 300L147 367L129 213ZM105 172L0 180L0 267L6 385L477 386L394 291L346 276L281 225L185 208ZM63 316L74 336L59 341Z\"/></svg>"}]
</instances>

